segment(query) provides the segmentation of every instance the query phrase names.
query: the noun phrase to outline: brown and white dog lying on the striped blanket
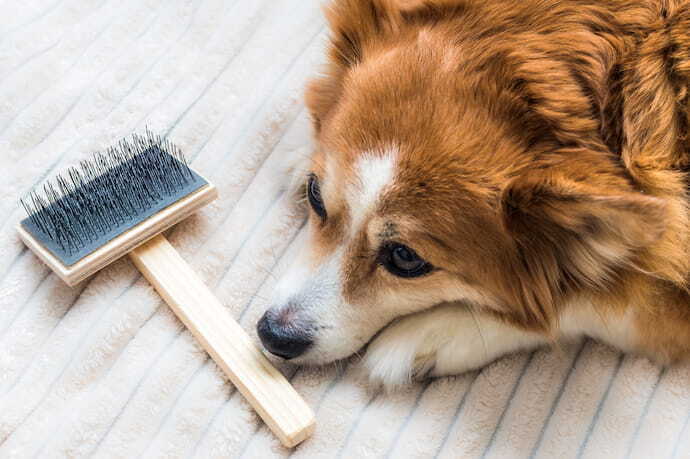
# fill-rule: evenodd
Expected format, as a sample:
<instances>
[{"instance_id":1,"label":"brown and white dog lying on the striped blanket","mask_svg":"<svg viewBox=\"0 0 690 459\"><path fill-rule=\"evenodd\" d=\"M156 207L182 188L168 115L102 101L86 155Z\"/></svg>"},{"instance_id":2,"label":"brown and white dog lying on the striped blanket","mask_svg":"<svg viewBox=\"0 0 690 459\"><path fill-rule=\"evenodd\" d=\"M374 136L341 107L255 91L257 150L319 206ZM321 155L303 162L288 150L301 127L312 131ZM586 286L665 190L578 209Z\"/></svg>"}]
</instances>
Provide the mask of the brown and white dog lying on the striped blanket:
<instances>
[{"instance_id":1,"label":"brown and white dog lying on the striped blanket","mask_svg":"<svg viewBox=\"0 0 690 459\"><path fill-rule=\"evenodd\" d=\"M690 357L690 1L335 0L308 240L258 324L373 379ZM373 337L373 339L372 339Z\"/></svg>"}]
</instances>

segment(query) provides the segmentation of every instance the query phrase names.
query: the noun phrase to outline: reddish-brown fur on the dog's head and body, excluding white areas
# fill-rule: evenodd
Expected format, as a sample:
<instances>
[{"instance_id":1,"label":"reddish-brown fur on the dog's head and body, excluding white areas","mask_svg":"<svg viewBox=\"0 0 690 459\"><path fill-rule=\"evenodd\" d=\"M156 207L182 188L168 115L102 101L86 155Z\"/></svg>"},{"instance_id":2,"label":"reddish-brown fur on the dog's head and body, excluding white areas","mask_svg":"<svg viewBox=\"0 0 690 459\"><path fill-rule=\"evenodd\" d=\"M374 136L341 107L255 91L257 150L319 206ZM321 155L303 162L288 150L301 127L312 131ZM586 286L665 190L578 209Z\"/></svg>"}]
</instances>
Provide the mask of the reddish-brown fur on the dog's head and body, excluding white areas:
<instances>
[{"instance_id":1,"label":"reddish-brown fur on the dog's head and body, excluding white areas","mask_svg":"<svg viewBox=\"0 0 690 459\"><path fill-rule=\"evenodd\" d=\"M640 351L690 356L690 1L336 0L328 19L318 157L347 175L398 145L377 212L415 222L444 276L544 333L574 297L632 307Z\"/></svg>"}]
</instances>

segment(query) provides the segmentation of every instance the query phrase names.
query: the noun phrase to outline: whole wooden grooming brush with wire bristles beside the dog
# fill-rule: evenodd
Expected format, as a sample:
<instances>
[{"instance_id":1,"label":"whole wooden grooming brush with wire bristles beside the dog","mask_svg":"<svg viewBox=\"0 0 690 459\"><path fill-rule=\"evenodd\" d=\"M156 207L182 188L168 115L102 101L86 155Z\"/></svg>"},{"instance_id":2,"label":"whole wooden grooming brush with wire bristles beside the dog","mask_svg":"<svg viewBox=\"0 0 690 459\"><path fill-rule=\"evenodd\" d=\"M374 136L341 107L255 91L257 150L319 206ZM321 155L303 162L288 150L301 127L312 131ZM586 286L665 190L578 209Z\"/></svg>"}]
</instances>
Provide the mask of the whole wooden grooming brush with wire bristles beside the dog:
<instances>
[{"instance_id":1,"label":"whole wooden grooming brush with wire bristles beside the dog","mask_svg":"<svg viewBox=\"0 0 690 459\"><path fill-rule=\"evenodd\" d=\"M24 243L73 286L129 254L264 422L287 447L314 415L160 234L218 196L178 148L147 131L96 153L21 203Z\"/></svg>"}]
</instances>

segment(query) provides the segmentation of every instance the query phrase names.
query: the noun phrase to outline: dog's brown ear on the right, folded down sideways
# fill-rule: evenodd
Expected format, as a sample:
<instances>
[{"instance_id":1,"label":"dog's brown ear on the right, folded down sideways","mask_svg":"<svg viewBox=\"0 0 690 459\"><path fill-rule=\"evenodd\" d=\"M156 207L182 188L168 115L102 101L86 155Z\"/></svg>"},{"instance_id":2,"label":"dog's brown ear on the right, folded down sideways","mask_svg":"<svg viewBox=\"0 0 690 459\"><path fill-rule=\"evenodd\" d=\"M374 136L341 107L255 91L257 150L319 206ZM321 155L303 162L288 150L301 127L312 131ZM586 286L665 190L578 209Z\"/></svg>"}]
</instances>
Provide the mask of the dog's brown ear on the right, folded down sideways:
<instances>
[{"instance_id":1,"label":"dog's brown ear on the right, folded down sideways","mask_svg":"<svg viewBox=\"0 0 690 459\"><path fill-rule=\"evenodd\" d=\"M565 295L604 289L665 230L663 200L608 193L557 177L520 177L501 197L512 240L507 301L526 324L548 330Z\"/></svg>"}]
</instances>

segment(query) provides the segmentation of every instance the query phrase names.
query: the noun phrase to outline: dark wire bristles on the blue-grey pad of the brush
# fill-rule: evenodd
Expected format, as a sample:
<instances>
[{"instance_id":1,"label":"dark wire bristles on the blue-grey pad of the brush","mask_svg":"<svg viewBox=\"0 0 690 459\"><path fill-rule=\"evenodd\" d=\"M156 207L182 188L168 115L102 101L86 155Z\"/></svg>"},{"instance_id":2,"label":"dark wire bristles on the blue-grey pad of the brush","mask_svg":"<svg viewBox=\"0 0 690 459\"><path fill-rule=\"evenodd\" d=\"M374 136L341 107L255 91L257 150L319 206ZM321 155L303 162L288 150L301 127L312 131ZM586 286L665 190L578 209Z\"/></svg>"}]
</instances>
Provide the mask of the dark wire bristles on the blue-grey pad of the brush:
<instances>
[{"instance_id":1,"label":"dark wire bristles on the blue-grey pad of the brush","mask_svg":"<svg viewBox=\"0 0 690 459\"><path fill-rule=\"evenodd\" d=\"M21 204L43 239L72 255L197 178L179 148L147 129L47 181Z\"/></svg>"}]
</instances>

